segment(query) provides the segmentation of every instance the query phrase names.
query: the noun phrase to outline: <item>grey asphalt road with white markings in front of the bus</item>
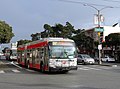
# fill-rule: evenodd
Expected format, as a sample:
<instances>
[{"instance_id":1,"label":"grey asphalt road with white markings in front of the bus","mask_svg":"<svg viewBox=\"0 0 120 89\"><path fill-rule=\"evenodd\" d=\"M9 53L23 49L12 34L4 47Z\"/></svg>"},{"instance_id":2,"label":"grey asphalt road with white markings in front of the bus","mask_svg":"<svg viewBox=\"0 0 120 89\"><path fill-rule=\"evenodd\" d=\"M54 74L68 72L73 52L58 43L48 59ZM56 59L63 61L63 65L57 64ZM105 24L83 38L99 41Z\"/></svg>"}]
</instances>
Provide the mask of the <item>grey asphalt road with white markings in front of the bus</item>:
<instances>
[{"instance_id":1,"label":"grey asphalt road with white markings in front of the bus","mask_svg":"<svg viewBox=\"0 0 120 89\"><path fill-rule=\"evenodd\" d=\"M67 74L49 73L0 60L0 89L119 89L120 66L78 65Z\"/></svg>"}]
</instances>

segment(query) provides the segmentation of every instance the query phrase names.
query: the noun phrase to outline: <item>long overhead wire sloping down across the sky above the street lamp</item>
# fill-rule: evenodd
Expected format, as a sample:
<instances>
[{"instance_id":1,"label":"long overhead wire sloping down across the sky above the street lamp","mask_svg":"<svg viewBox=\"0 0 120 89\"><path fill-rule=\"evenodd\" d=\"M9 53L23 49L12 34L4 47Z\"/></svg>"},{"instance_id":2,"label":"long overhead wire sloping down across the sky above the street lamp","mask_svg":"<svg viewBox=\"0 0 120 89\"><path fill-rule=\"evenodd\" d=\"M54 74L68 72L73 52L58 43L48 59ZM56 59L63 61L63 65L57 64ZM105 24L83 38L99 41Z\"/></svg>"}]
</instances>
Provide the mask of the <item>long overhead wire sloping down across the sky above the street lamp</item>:
<instances>
[{"instance_id":1,"label":"long overhead wire sloping down across the sky above the street lamp","mask_svg":"<svg viewBox=\"0 0 120 89\"><path fill-rule=\"evenodd\" d=\"M94 4L94 3L86 3L86 2L80 2L80 1L72 1L72 0L58 0L62 2L69 2L69 3L76 3L76 4L81 4L81 5L94 5L94 6L100 6L100 7L113 7L113 6L108 6L108 5L102 5L102 4ZM107 0L106 0L107 1ZM120 7L113 7L113 8L120 8Z\"/></svg>"}]
</instances>

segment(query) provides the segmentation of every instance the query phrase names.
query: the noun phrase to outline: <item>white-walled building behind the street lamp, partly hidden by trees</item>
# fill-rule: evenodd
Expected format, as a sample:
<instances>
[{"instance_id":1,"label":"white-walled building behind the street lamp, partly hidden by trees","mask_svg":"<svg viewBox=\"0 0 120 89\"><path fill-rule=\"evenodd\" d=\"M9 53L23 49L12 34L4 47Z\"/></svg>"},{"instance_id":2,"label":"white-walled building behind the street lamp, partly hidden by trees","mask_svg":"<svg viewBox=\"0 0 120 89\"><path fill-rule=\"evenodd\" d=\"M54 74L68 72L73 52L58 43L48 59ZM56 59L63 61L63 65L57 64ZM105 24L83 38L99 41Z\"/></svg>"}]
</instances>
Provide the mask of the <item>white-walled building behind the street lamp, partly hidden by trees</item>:
<instances>
[{"instance_id":1,"label":"white-walled building behind the street lamp, partly hidden by trees","mask_svg":"<svg viewBox=\"0 0 120 89\"><path fill-rule=\"evenodd\" d=\"M94 39L94 41L98 41L98 42L104 42L105 41L105 37L108 36L111 33L120 33L120 26L103 26L100 27L103 31L100 30L96 31L97 27L94 28L90 28L85 30L85 35L90 36L91 38ZM100 33L100 34L99 34ZM102 56L105 56L106 54L110 54L112 56L114 56L114 58L116 60L120 61L120 48L119 49L115 49L114 47L103 47L102 48Z\"/></svg>"}]
</instances>

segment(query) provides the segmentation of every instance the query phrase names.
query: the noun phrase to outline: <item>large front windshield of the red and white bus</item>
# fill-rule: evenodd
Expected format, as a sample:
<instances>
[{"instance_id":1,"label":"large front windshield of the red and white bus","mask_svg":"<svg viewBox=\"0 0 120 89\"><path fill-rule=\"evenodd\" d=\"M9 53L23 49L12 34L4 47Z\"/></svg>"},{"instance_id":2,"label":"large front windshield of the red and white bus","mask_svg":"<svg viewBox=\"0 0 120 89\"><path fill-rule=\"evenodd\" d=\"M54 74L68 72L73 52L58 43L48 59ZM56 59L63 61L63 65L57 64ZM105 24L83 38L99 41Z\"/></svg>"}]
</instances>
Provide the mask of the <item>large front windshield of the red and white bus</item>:
<instances>
[{"instance_id":1,"label":"large front windshield of the red and white bus","mask_svg":"<svg viewBox=\"0 0 120 89\"><path fill-rule=\"evenodd\" d=\"M50 51L51 58L74 58L75 57L75 47L74 46L52 46Z\"/></svg>"}]
</instances>

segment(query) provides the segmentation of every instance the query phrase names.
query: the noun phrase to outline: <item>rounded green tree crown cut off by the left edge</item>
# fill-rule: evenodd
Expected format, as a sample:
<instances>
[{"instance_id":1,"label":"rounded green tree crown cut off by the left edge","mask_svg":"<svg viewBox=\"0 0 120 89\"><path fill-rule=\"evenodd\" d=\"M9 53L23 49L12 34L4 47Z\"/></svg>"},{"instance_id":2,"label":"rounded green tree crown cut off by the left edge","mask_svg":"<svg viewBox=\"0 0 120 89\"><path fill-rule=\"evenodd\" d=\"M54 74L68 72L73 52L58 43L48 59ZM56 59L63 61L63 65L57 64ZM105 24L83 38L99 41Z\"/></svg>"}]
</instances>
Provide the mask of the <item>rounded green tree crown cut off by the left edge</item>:
<instances>
[{"instance_id":1,"label":"rounded green tree crown cut off by the left edge","mask_svg":"<svg viewBox=\"0 0 120 89\"><path fill-rule=\"evenodd\" d=\"M5 21L0 21L0 43L9 43L13 36L12 27Z\"/></svg>"}]
</instances>

